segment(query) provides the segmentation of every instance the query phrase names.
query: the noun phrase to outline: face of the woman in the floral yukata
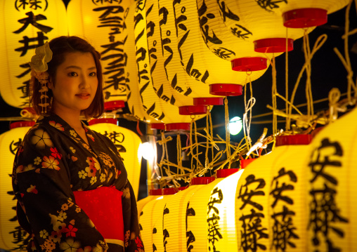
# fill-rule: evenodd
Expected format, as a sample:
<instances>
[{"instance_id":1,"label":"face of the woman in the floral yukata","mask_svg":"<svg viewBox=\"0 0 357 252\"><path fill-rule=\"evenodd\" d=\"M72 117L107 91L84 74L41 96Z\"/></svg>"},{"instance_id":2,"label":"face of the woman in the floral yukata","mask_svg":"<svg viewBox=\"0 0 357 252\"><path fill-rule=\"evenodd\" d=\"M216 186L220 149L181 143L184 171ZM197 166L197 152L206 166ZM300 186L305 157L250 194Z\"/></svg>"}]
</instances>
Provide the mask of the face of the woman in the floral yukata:
<instances>
[{"instance_id":1,"label":"face of the woman in the floral yukata","mask_svg":"<svg viewBox=\"0 0 357 252\"><path fill-rule=\"evenodd\" d=\"M79 113L86 110L98 88L96 63L91 53L67 53L58 66L56 78L49 81L53 92L53 112Z\"/></svg>"}]
</instances>

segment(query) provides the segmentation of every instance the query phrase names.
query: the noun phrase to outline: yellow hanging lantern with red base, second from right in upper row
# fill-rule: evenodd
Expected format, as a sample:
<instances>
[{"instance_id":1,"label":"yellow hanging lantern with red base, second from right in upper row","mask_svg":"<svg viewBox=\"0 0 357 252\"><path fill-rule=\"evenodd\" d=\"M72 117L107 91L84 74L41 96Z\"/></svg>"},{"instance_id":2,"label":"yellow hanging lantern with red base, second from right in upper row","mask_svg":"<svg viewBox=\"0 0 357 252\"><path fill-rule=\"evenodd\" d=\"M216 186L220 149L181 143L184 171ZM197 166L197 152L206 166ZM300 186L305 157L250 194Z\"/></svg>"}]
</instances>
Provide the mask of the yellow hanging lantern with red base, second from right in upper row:
<instances>
[{"instance_id":1,"label":"yellow hanging lantern with red base, second from right in upper row","mask_svg":"<svg viewBox=\"0 0 357 252\"><path fill-rule=\"evenodd\" d=\"M284 27L281 15L264 10L257 1L220 0L217 8L221 10L221 18L232 34L254 42L254 51L259 53L291 51L294 39L304 36L304 29ZM307 30L311 31L312 28Z\"/></svg>"}]
</instances>

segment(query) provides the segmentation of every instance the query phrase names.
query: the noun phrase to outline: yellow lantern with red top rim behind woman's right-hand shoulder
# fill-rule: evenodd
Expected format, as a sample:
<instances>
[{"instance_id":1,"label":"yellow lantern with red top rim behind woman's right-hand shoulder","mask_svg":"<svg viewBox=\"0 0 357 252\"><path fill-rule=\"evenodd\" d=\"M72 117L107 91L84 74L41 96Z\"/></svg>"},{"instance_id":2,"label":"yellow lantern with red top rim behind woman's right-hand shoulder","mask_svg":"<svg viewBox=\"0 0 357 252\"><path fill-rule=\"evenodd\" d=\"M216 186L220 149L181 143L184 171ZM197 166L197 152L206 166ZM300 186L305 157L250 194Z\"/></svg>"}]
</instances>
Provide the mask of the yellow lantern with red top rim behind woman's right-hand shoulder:
<instances>
[{"instance_id":1,"label":"yellow lantern with red top rim behind woman's right-hand shoulder","mask_svg":"<svg viewBox=\"0 0 357 252\"><path fill-rule=\"evenodd\" d=\"M92 119L89 121L89 128L107 136L115 144L137 198L141 172L141 156L138 154L141 140L138 135L127 128L117 126L117 119Z\"/></svg>"}]
</instances>

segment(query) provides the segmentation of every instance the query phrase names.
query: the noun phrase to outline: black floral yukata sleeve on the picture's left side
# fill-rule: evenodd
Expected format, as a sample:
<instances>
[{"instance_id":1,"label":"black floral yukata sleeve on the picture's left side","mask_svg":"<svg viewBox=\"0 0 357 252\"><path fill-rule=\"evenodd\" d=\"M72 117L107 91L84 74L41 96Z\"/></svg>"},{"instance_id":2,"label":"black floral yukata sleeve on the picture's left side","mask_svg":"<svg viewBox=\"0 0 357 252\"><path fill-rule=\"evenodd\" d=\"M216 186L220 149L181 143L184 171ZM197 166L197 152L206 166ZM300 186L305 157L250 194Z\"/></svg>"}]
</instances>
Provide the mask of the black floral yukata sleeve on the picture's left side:
<instances>
[{"instance_id":1,"label":"black floral yukata sleeve on the picture's left side","mask_svg":"<svg viewBox=\"0 0 357 252\"><path fill-rule=\"evenodd\" d=\"M75 204L64 153L54 142L46 128L31 129L13 168L13 190L30 223L34 244L42 251L86 246L105 251L108 246L102 235Z\"/></svg>"}]
</instances>

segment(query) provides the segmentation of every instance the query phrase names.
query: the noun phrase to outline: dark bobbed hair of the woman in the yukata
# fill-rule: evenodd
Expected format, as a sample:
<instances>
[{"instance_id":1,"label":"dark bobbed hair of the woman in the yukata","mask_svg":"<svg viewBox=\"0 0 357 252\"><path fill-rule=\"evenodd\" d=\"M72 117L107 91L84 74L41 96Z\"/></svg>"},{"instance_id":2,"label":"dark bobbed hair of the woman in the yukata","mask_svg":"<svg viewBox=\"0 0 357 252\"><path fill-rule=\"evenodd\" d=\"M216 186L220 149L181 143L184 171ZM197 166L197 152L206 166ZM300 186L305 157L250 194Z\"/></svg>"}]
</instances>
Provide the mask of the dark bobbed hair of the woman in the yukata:
<instances>
[{"instance_id":1,"label":"dark bobbed hair of the woman in the yukata","mask_svg":"<svg viewBox=\"0 0 357 252\"><path fill-rule=\"evenodd\" d=\"M48 42L50 49L53 53L52 59L50 62L47 63L48 65L48 75L49 78L52 80L56 79L56 71L59 65L61 65L65 61L65 55L67 53L75 53L75 52L81 52L81 53L91 53L93 55L94 62L96 62L96 68L97 68L97 78L98 78L98 88L96 91L96 95L94 96L93 101L91 102L91 105L86 109L82 111L82 114L86 118L98 118L103 114L104 112L104 97L103 97L103 73L102 73L102 67L100 65L100 53L96 51L91 44L89 44L87 41L84 39L81 39L79 37L75 36L61 36L57 37L55 39L52 39L51 41ZM32 77L34 78L34 77ZM41 93L39 90L41 89L41 83L34 78L33 86L30 87L32 90L32 97L31 97L31 103L32 107L34 107L34 110L37 112L37 114L42 114L42 107L39 106L39 103L41 103ZM56 85L56 83L53 82L53 85ZM53 94L51 89L48 88L47 91L48 95L48 101L51 101L53 98ZM49 102L50 105L47 107L47 110L51 112L51 102Z\"/></svg>"}]
</instances>

